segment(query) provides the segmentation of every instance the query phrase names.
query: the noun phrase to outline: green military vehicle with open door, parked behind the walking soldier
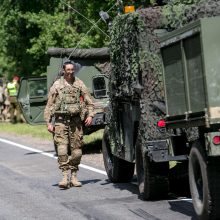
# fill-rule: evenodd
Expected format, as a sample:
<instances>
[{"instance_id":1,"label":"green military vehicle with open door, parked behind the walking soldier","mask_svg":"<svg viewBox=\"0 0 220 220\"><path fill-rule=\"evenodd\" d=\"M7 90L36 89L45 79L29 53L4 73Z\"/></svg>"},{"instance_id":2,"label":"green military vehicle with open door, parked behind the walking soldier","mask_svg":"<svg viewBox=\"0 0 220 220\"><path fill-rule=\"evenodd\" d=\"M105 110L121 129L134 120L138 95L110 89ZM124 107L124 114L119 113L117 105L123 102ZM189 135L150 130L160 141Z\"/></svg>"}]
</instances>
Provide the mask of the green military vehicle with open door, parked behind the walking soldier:
<instances>
[{"instance_id":1,"label":"green military vehicle with open door, parked behind the walking soldier","mask_svg":"<svg viewBox=\"0 0 220 220\"><path fill-rule=\"evenodd\" d=\"M49 48L47 53L50 56L47 76L22 78L20 82L18 101L26 121L32 125L45 123L43 114L48 91L53 82L60 77L63 63L72 60L81 65L76 76L88 87L95 106L92 125L84 127L84 134L103 128L103 110L108 102L108 90L105 87L109 74L108 49ZM92 86L95 87L96 93L92 93Z\"/></svg>"}]
</instances>

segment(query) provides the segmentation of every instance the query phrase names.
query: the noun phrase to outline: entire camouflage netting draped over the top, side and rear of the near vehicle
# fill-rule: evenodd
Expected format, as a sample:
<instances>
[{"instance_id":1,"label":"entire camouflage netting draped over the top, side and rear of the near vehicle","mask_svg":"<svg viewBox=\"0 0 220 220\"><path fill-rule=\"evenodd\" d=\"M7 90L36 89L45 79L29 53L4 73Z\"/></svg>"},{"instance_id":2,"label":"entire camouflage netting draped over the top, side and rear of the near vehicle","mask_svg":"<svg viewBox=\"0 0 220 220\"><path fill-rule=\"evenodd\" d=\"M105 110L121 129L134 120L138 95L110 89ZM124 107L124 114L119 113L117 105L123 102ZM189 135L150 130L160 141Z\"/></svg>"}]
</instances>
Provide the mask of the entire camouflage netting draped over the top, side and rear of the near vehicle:
<instances>
[{"instance_id":1,"label":"entire camouflage netting draped over the top, side and rear of the near vehicle","mask_svg":"<svg viewBox=\"0 0 220 220\"><path fill-rule=\"evenodd\" d=\"M195 3L195 4L193 4ZM112 112L110 129L113 137L117 131L118 99L133 100L138 97L135 86L142 84L139 135L144 144L161 138L157 121L164 115L154 107L154 102L164 102L159 40L155 29L167 31L182 27L202 17L220 14L220 1L173 0L162 7L151 7L136 13L118 16L110 30L110 99ZM139 80L141 73L142 82ZM197 129L189 132L189 141L198 138ZM117 138L115 142L118 143ZM119 143L118 143L119 144Z\"/></svg>"}]
</instances>

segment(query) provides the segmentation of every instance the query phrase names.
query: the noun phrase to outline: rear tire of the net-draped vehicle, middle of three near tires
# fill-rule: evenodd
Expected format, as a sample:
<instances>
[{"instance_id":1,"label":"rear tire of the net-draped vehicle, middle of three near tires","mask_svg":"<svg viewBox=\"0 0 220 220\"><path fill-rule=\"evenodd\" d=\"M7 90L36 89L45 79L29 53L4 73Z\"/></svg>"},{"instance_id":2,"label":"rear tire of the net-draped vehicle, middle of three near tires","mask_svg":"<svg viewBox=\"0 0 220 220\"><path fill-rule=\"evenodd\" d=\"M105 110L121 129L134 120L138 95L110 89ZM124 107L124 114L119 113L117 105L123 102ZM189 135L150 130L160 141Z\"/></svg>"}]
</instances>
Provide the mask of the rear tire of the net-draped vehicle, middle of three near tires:
<instances>
[{"instance_id":1,"label":"rear tire of the net-draped vehicle, middle of three near tires","mask_svg":"<svg viewBox=\"0 0 220 220\"><path fill-rule=\"evenodd\" d=\"M165 198L169 190L169 163L150 160L141 145L136 146L136 171L141 197L144 200Z\"/></svg>"}]
</instances>

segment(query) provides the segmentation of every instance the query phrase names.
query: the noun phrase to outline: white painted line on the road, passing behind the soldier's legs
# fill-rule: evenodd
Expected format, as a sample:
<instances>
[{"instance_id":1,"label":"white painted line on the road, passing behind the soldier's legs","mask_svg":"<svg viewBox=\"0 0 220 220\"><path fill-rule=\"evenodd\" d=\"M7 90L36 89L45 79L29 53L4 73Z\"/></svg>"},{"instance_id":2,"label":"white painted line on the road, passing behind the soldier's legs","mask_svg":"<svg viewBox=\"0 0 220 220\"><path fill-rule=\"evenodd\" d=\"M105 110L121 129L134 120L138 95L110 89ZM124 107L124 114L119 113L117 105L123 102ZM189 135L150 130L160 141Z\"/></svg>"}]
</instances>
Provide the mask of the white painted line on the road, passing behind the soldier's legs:
<instances>
[{"instance_id":1,"label":"white painted line on the road, passing behind the soldier's legs","mask_svg":"<svg viewBox=\"0 0 220 220\"><path fill-rule=\"evenodd\" d=\"M0 142L3 142L3 143L6 143L6 144L10 144L10 145L16 146L16 147L22 148L22 149L27 150L27 151L39 153L39 154L42 154L42 155L47 156L47 157L51 157L51 158L57 159L57 157L54 156L53 154L46 153L46 152L43 152L42 150L38 150L38 149L35 149L35 148L32 148L32 147L27 147L27 146L25 146L25 145L18 144L18 143L15 143L15 142L13 142L13 141L9 141L9 140L3 139L3 138L0 138ZM79 166L82 167L82 168L84 168L84 169L87 169L87 170L91 170L91 171L93 171L93 172L96 172L96 173L100 173L100 174L103 174L103 175L107 175L105 171L96 169L96 168L94 168L94 167L90 167L90 166L87 166L87 165L84 165L84 164L80 164Z\"/></svg>"}]
</instances>

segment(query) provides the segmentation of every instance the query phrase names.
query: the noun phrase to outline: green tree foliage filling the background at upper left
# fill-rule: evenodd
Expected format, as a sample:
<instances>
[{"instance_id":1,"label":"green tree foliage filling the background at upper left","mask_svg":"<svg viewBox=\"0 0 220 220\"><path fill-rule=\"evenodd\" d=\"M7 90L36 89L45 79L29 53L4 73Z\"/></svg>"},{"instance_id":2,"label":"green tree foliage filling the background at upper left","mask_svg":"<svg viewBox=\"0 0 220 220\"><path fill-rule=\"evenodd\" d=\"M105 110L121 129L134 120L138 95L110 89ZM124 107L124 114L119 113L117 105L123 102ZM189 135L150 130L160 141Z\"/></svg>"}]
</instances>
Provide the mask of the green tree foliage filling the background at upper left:
<instances>
[{"instance_id":1,"label":"green tree foliage filling the background at upper left","mask_svg":"<svg viewBox=\"0 0 220 220\"><path fill-rule=\"evenodd\" d=\"M42 74L48 65L48 47L106 45L108 37L98 28L92 29L88 20L97 22L99 11L114 4L114 0L0 0L0 74L9 79L13 74ZM97 26L107 32L104 22Z\"/></svg>"}]
</instances>

